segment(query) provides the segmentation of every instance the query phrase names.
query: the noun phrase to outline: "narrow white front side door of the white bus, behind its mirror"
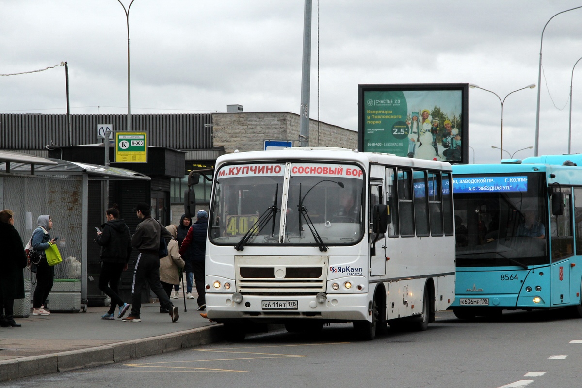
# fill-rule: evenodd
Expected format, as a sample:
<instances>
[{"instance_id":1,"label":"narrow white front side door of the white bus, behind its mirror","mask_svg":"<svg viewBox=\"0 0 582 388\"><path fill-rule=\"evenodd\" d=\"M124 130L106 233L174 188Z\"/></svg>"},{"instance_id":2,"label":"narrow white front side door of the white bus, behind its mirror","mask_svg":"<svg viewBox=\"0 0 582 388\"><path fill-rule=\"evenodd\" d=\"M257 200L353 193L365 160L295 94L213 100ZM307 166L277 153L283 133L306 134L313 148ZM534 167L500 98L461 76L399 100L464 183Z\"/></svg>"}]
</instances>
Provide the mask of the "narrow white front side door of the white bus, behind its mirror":
<instances>
[{"instance_id":1,"label":"narrow white front side door of the white bus, behind its mirror","mask_svg":"<svg viewBox=\"0 0 582 388\"><path fill-rule=\"evenodd\" d=\"M379 169L381 168L381 171ZM378 171L375 171L375 170ZM381 276L386 273L386 240L385 233L372 232L372 214L374 205L385 204L384 200L384 166L372 166L370 171L370 197L368 198L368 231L370 232L370 276ZM375 244L375 248L374 248Z\"/></svg>"}]
</instances>

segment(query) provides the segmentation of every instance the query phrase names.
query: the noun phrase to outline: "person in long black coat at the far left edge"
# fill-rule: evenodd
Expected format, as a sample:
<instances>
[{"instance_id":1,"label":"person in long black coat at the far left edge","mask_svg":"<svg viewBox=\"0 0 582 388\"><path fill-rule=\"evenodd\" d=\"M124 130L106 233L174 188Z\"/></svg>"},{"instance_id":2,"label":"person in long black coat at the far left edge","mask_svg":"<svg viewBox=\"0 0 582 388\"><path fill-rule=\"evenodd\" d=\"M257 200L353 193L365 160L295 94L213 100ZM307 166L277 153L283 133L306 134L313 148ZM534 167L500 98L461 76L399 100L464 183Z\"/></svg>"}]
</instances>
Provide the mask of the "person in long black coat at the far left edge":
<instances>
[{"instance_id":1,"label":"person in long black coat at the far left edge","mask_svg":"<svg viewBox=\"0 0 582 388\"><path fill-rule=\"evenodd\" d=\"M26 253L20 234L14 228L14 212L4 209L0 212L0 325L3 328L20 328L14 320L14 300L24 298L24 276Z\"/></svg>"}]
</instances>

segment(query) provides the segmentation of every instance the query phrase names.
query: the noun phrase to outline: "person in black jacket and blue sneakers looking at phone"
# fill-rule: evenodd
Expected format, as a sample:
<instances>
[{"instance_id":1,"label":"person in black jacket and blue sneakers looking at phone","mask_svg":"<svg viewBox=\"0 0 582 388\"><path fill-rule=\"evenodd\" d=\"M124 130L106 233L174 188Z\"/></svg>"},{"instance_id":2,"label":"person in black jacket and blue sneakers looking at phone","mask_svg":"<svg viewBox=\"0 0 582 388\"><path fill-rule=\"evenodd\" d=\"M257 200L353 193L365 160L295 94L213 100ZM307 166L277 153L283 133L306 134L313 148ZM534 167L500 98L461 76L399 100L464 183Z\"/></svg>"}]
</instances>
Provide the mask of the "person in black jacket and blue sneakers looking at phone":
<instances>
[{"instance_id":1,"label":"person in black jacket and blue sneakers looking at phone","mask_svg":"<svg viewBox=\"0 0 582 388\"><path fill-rule=\"evenodd\" d=\"M125 221L119 218L117 204L107 209L107 222L101 225L97 232L97 244L101 245L101 273L99 274L99 289L111 298L109 311L101 315L102 319L115 319L115 308L119 306L117 318L125 315L129 304L119 297L119 279L127 269L127 262L132 254L132 234Z\"/></svg>"}]
</instances>

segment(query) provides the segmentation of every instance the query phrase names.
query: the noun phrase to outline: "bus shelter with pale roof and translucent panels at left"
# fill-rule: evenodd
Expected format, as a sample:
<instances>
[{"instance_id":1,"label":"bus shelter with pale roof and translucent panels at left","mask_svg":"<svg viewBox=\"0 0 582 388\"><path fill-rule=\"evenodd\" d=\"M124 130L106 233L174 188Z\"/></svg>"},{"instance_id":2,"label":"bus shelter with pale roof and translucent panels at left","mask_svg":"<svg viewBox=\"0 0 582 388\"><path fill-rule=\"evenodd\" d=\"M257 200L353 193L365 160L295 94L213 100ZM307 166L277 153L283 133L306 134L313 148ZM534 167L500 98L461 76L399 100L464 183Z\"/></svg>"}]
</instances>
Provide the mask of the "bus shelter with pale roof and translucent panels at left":
<instances>
[{"instance_id":1,"label":"bus shelter with pale roof and translucent panels at left","mask_svg":"<svg viewBox=\"0 0 582 388\"><path fill-rule=\"evenodd\" d=\"M38 216L51 216L54 224L51 237L59 237L57 244L63 259L55 266L55 280L80 283L80 290L75 291L80 291L80 309L86 310L87 285L92 280L87 273L87 236L89 228L97 226L89 225L88 213L90 208L106 206L101 203L101 191L95 193L90 187L100 181L150 179L121 168L0 151L0 209L15 212L15 228L23 244L36 229ZM24 276L34 287L35 275L25 269ZM33 291L31 288L31 294Z\"/></svg>"}]
</instances>

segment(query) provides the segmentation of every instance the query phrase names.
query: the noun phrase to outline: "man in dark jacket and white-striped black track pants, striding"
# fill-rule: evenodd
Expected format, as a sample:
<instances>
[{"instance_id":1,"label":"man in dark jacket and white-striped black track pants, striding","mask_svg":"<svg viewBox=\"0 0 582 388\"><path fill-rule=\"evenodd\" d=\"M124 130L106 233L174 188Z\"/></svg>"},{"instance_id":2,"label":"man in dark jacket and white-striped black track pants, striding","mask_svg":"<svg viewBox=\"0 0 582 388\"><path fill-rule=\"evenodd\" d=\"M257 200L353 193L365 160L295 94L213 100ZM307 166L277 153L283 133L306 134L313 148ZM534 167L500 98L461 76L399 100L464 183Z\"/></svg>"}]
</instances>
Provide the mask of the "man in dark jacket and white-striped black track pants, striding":
<instances>
[{"instance_id":1,"label":"man in dark jacket and white-striped black track pants, striding","mask_svg":"<svg viewBox=\"0 0 582 388\"><path fill-rule=\"evenodd\" d=\"M165 227L151 218L150 205L138 202L133 209L141 222L132 236L132 247L139 251L133 270L132 282L132 312L122 321L140 322L141 290L147 280L150 288L158 297L162 308L168 310L172 322L178 321L178 307L172 304L168 294L159 283L159 247L161 237L171 239L172 235Z\"/></svg>"}]
</instances>

